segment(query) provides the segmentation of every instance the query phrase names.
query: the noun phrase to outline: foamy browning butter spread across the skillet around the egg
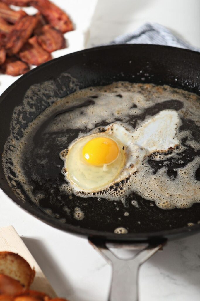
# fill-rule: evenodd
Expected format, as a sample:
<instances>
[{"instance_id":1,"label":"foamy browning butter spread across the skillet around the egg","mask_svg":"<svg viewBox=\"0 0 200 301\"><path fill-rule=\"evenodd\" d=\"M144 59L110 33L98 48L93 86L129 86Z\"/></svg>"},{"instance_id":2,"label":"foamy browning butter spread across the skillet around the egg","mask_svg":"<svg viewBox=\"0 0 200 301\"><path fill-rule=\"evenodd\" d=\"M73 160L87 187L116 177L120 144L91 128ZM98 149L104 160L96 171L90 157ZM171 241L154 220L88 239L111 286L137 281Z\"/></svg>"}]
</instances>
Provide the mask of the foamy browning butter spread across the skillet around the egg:
<instances>
[{"instance_id":1,"label":"foamy browning butter spread across the skillet around the egg","mask_svg":"<svg viewBox=\"0 0 200 301\"><path fill-rule=\"evenodd\" d=\"M31 162L31 151L35 148L38 154L35 164L51 166L52 162L49 162L47 154L52 150L46 149L45 135L50 135L56 145L57 143L61 145L60 149L56 150L56 156L59 157L60 151L68 147L72 141L71 132L77 131L77 137L80 138L88 132L96 131L102 124L107 126L116 121L123 122L127 128L138 129L163 108L177 111L182 125L175 134L174 140L177 139L182 146L167 154L153 153L139 165L136 173L127 176L124 182L117 183L118 186L102 191L98 197L122 200L134 192L146 200L155 202L162 209L187 208L200 201L200 182L196 177L200 164L199 96L169 86L117 82L104 87L86 88L61 99L56 98L52 92L52 95L45 100L43 112L37 117L34 116L36 100L33 92L37 91L36 94L39 96L41 93L43 103L45 96L41 90L47 91L53 88L51 83L43 84L42 87L41 85L36 88L31 87L25 95L23 104L16 107L13 112L12 131L4 147L3 165L9 185L23 201L25 201L24 196L16 182L20 183L28 197L36 204L43 197L43 191L46 189L43 180L45 175L39 173ZM122 98L116 97L118 94L121 94ZM94 95L92 101L85 102ZM30 117L28 126L23 126L24 115L20 115L20 111L34 116ZM44 123L46 127L42 127ZM20 131L19 124L22 125ZM193 126L190 126L191 124ZM34 139L40 132L43 133L41 137L44 142L42 144L41 141L40 147L37 148ZM30 157L28 157L29 153ZM30 166L25 166L24 157L30 158ZM168 174L173 164L175 176ZM61 171L62 167L62 165L58 166L58 170ZM31 169L31 178L27 176L27 169ZM37 194L34 193L34 181L41 187L41 191L37 191ZM57 186L61 194L68 196L76 194L81 197L97 197L95 194L73 191L67 182L60 185L58 183ZM53 196L53 189L51 193ZM59 201L58 197L54 201ZM47 213L52 214L49 211Z\"/></svg>"}]
</instances>

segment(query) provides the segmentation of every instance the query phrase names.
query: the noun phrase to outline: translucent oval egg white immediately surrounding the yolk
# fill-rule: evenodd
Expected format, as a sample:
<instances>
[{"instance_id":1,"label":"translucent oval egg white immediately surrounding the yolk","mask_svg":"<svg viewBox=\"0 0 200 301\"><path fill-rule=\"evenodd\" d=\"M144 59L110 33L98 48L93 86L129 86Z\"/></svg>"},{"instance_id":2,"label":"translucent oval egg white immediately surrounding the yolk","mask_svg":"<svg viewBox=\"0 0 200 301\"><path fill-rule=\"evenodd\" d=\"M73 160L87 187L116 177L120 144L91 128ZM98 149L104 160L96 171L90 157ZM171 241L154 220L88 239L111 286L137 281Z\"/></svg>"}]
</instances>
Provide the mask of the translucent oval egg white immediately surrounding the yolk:
<instances>
[{"instance_id":1,"label":"translucent oval egg white immediately surrounding the yolk","mask_svg":"<svg viewBox=\"0 0 200 301\"><path fill-rule=\"evenodd\" d=\"M113 139L119 148L119 154L117 159L104 166L94 166L85 162L82 156L83 146L91 139L103 136ZM66 162L64 165L64 171L66 171L66 178L70 184L78 191L95 191L109 185L121 171L124 160L125 151L121 141L118 140L115 135L107 133L98 133L94 135L89 135L78 139L75 143L71 144L68 149L68 154ZM99 150L100 151L100 150ZM63 158L63 152L61 153L61 158Z\"/></svg>"}]
</instances>

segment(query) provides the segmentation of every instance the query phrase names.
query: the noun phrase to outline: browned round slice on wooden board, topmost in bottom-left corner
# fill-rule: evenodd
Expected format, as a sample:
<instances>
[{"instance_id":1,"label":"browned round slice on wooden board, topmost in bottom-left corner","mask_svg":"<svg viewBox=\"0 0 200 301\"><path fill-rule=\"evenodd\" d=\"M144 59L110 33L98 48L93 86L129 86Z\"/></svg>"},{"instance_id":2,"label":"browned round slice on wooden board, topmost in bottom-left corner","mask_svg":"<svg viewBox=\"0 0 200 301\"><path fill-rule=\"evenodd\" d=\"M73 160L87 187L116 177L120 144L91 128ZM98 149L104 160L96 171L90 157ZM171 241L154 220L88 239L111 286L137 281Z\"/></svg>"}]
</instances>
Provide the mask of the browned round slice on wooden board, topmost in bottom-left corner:
<instances>
[{"instance_id":1,"label":"browned round slice on wooden board, topmost in bottom-left corner","mask_svg":"<svg viewBox=\"0 0 200 301\"><path fill-rule=\"evenodd\" d=\"M28 289L33 282L35 271L18 254L0 252L0 274L19 281L25 289Z\"/></svg>"}]
</instances>

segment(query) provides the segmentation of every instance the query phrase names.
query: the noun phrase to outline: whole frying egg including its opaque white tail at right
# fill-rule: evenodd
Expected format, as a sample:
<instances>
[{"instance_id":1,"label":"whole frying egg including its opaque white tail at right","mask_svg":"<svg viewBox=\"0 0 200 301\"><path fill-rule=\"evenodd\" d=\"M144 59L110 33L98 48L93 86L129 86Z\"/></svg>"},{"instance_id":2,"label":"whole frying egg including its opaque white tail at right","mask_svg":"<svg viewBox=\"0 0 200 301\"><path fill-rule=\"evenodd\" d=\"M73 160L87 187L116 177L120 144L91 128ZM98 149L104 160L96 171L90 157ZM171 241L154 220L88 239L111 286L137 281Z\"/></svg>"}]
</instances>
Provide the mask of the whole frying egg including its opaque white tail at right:
<instances>
[{"instance_id":1,"label":"whole frying egg including its opaque white tail at right","mask_svg":"<svg viewBox=\"0 0 200 301\"><path fill-rule=\"evenodd\" d=\"M60 153L62 172L73 191L106 191L136 173L151 153L179 144L175 137L179 125L175 110L162 110L136 129L115 122L104 132L93 130Z\"/></svg>"}]
</instances>

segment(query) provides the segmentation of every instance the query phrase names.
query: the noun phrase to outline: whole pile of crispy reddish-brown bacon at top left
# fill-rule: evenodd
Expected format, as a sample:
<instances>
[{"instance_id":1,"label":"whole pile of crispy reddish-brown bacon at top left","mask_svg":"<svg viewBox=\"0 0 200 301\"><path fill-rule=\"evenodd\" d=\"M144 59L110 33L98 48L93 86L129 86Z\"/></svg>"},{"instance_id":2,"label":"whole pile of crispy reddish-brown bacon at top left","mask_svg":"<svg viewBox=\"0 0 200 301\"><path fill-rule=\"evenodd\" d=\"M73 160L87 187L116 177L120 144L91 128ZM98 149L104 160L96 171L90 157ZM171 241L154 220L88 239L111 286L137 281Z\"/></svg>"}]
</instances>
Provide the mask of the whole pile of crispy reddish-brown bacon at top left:
<instances>
[{"instance_id":1,"label":"whole pile of crispy reddish-brown bacon at top left","mask_svg":"<svg viewBox=\"0 0 200 301\"><path fill-rule=\"evenodd\" d=\"M29 16L9 5L33 6L38 13ZM62 33L71 30L69 16L49 0L0 0L1 72L18 76L29 70L28 64L51 60L52 51L66 47Z\"/></svg>"}]
</instances>

